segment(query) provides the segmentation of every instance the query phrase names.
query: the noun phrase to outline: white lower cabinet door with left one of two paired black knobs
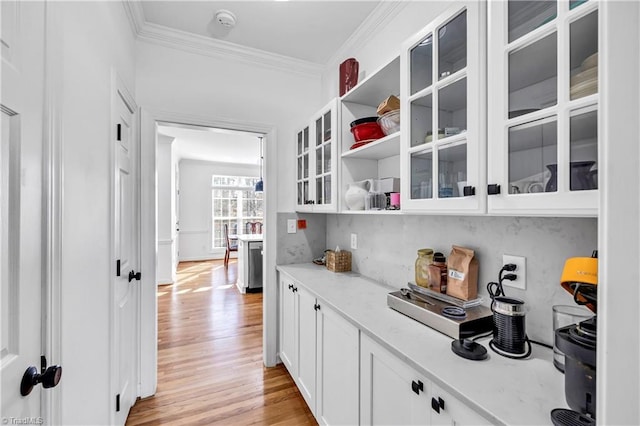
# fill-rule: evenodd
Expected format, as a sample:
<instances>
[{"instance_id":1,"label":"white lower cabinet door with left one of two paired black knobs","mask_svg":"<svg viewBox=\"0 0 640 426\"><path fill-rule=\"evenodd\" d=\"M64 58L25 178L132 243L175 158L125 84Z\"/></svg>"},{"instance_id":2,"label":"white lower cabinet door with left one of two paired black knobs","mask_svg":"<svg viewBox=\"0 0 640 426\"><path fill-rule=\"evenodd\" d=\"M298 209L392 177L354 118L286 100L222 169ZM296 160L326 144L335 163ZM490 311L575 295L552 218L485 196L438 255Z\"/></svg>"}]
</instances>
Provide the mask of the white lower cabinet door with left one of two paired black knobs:
<instances>
[{"instance_id":1,"label":"white lower cabinet door with left one of two paired black knobs","mask_svg":"<svg viewBox=\"0 0 640 426\"><path fill-rule=\"evenodd\" d=\"M424 425L429 382L366 335L360 339L360 418L363 425Z\"/></svg>"}]
</instances>

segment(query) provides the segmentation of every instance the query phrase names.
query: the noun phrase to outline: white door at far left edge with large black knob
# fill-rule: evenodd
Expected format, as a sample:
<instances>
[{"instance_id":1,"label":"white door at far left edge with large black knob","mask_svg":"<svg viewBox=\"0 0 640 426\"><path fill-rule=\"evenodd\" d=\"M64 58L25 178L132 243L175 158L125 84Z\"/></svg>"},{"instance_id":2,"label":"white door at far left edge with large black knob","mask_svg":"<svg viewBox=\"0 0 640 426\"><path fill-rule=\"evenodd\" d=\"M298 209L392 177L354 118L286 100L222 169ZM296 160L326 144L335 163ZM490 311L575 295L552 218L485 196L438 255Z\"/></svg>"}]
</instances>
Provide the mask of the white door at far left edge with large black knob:
<instances>
[{"instance_id":1,"label":"white door at far left edge with large black knob","mask_svg":"<svg viewBox=\"0 0 640 426\"><path fill-rule=\"evenodd\" d=\"M0 10L0 413L18 424L41 414L42 386L21 384L27 367L41 373L44 7Z\"/></svg>"}]
</instances>

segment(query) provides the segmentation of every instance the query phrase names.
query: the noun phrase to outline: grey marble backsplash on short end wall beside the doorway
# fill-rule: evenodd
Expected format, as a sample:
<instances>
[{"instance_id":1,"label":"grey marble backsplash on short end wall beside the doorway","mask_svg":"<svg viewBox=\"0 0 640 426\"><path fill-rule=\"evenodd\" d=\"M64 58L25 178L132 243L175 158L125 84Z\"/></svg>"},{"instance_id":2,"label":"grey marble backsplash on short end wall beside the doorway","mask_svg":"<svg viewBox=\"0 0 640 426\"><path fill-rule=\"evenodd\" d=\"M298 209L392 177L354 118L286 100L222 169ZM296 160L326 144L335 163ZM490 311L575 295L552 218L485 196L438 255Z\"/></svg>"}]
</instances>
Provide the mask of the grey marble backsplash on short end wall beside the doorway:
<instances>
[{"instance_id":1,"label":"grey marble backsplash on short end wall beside the doorway","mask_svg":"<svg viewBox=\"0 0 640 426\"><path fill-rule=\"evenodd\" d=\"M288 219L305 219L307 228L287 233ZM327 216L313 213L278 213L276 264L306 263L321 257L327 248Z\"/></svg>"}]
</instances>

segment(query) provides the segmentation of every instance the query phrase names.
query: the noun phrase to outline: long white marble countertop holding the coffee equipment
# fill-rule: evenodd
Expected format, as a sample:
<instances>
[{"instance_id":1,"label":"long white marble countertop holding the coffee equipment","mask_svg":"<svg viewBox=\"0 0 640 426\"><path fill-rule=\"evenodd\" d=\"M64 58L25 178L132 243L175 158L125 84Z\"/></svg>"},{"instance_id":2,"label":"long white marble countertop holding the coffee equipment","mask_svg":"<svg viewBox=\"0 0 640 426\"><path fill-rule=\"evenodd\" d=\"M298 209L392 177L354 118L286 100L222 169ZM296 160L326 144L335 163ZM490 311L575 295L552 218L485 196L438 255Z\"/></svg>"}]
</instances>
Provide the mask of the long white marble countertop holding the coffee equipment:
<instances>
[{"instance_id":1,"label":"long white marble countertop holding the coffee equipment","mask_svg":"<svg viewBox=\"0 0 640 426\"><path fill-rule=\"evenodd\" d=\"M450 337L387 307L387 293L396 288L312 263L277 269L493 424L551 424L551 410L567 408L551 349L533 345L530 358L513 360L491 351L487 337L478 343L488 358L470 361L451 351Z\"/></svg>"}]
</instances>

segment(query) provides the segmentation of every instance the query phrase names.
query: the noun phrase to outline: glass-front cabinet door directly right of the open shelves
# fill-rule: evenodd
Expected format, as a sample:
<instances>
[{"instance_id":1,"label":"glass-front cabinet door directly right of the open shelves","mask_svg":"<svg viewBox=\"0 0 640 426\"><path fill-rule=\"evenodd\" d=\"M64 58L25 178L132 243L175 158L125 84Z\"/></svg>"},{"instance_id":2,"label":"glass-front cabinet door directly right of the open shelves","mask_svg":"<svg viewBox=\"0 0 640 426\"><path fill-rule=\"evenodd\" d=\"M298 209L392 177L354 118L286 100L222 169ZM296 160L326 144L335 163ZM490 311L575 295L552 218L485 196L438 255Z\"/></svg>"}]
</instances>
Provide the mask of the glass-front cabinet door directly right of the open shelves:
<instances>
[{"instance_id":1,"label":"glass-front cabinet door directly right of the open shelves","mask_svg":"<svg viewBox=\"0 0 640 426\"><path fill-rule=\"evenodd\" d=\"M460 3L403 46L403 210L485 212L485 7Z\"/></svg>"}]
</instances>

